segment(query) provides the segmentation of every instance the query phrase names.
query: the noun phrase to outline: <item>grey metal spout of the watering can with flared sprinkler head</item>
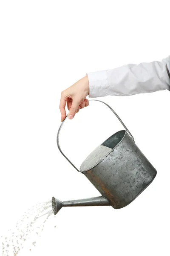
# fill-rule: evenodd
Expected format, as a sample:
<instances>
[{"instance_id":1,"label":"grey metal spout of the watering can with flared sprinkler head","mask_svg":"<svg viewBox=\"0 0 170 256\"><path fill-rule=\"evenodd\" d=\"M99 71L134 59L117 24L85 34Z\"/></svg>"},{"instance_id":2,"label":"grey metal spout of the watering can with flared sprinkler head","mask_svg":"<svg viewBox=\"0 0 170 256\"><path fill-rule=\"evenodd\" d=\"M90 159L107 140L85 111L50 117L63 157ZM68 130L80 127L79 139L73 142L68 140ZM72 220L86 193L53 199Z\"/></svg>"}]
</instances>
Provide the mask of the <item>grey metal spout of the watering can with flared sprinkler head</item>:
<instances>
[{"instance_id":1,"label":"grey metal spout of the watering can with flared sprinkler head","mask_svg":"<svg viewBox=\"0 0 170 256\"><path fill-rule=\"evenodd\" d=\"M70 201L60 201L56 198L52 198L52 207L54 215L59 212L62 207L71 207L71 206L106 206L111 205L103 196L93 197L93 198L85 198L78 200L70 200Z\"/></svg>"}]
</instances>

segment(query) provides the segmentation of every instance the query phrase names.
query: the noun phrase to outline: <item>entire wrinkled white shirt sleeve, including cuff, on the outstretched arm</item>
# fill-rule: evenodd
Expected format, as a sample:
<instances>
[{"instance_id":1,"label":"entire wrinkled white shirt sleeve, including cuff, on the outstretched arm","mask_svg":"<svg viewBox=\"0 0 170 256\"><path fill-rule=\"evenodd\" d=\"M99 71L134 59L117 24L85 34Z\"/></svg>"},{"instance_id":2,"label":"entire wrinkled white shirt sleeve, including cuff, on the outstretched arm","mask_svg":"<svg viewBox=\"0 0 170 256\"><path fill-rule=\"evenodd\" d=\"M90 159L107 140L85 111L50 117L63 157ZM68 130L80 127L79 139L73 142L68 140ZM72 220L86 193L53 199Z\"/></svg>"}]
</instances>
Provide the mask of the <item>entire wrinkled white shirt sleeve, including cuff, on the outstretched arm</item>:
<instances>
[{"instance_id":1,"label":"entire wrinkled white shirt sleeve, including cuff, on the outstretched arm","mask_svg":"<svg viewBox=\"0 0 170 256\"><path fill-rule=\"evenodd\" d=\"M170 55L162 61L127 64L87 75L90 98L170 90Z\"/></svg>"}]
</instances>

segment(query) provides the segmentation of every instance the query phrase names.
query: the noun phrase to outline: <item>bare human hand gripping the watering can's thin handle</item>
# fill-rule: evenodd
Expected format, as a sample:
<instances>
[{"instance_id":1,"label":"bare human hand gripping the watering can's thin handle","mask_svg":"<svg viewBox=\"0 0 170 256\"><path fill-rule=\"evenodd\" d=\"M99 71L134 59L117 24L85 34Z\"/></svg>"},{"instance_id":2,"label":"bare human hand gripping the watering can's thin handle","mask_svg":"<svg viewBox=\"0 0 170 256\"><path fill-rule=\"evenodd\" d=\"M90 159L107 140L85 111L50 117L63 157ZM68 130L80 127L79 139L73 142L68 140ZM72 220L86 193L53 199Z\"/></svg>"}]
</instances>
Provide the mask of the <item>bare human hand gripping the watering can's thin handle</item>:
<instances>
[{"instance_id":1,"label":"bare human hand gripping the watering can's thin handle","mask_svg":"<svg viewBox=\"0 0 170 256\"><path fill-rule=\"evenodd\" d=\"M65 106L69 110L68 118L73 119L75 114L79 112L80 108L87 107L89 105L88 99L85 99L89 94L89 82L86 75L75 84L63 90L61 93L61 99L59 109L61 112L61 121L66 117Z\"/></svg>"}]
</instances>

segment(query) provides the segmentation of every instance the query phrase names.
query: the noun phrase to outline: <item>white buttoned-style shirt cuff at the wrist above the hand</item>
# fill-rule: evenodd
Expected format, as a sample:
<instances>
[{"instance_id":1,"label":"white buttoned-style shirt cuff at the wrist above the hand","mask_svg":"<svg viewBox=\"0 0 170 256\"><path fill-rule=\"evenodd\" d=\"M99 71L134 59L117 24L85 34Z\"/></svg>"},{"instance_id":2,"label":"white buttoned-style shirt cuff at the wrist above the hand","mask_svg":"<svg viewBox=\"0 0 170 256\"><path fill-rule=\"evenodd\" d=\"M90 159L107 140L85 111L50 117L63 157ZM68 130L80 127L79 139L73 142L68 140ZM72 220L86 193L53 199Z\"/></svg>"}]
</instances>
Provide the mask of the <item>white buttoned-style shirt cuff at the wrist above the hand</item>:
<instances>
[{"instance_id":1,"label":"white buttoned-style shirt cuff at the wrist above the hand","mask_svg":"<svg viewBox=\"0 0 170 256\"><path fill-rule=\"evenodd\" d=\"M108 95L107 71L89 72L89 98L103 97Z\"/></svg>"}]
</instances>

